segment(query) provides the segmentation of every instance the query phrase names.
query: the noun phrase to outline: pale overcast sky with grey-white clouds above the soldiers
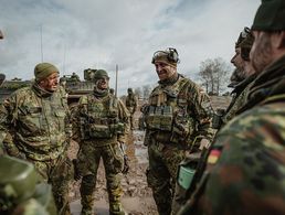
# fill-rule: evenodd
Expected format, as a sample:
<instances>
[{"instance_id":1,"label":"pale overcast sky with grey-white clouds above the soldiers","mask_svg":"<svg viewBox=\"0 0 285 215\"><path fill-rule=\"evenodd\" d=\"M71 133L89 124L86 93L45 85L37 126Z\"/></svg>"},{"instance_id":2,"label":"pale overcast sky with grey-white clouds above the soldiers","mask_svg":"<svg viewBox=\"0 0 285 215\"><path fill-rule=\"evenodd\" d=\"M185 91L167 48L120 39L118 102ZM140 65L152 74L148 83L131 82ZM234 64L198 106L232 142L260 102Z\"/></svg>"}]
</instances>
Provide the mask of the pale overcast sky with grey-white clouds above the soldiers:
<instances>
[{"instance_id":1,"label":"pale overcast sky with grey-white clouds above the soldiers","mask_svg":"<svg viewBox=\"0 0 285 215\"><path fill-rule=\"evenodd\" d=\"M178 71L196 80L200 63L230 63L234 42L251 26L260 0L0 0L0 71L31 79L35 64L61 75L84 68L109 72L119 94L155 85L155 51L176 47Z\"/></svg>"}]
</instances>

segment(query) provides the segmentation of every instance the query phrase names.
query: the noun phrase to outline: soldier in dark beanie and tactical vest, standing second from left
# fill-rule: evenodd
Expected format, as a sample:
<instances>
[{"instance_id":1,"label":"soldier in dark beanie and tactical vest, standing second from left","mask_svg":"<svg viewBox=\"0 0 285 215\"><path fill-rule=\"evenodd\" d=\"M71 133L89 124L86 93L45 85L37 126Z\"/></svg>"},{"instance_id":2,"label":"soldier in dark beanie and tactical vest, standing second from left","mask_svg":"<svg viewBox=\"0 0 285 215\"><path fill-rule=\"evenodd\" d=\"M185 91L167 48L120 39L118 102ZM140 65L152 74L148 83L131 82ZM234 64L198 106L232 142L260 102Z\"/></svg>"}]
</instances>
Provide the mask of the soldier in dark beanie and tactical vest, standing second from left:
<instances>
[{"instance_id":1,"label":"soldier in dark beanie and tactical vest, standing second from left","mask_svg":"<svg viewBox=\"0 0 285 215\"><path fill-rule=\"evenodd\" d=\"M94 92L81 98L75 114L80 143L76 178L82 176L82 214L93 214L101 158L107 180L109 213L125 214L120 204L123 190L119 173L126 171L124 144L129 130L128 110L109 93L109 77L106 71L96 71L94 82Z\"/></svg>"}]
</instances>

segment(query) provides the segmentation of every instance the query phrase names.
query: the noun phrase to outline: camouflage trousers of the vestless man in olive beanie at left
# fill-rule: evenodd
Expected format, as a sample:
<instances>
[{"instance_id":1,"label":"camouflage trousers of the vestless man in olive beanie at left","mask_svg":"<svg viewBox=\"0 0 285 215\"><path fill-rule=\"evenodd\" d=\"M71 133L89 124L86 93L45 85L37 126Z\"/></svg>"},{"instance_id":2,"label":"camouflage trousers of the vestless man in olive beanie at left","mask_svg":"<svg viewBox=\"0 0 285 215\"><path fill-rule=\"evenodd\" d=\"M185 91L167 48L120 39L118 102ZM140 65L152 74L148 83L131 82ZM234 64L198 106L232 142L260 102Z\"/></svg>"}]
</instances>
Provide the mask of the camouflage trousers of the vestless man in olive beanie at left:
<instances>
[{"instance_id":1,"label":"camouflage trousers of the vestless man in olive beanie at left","mask_svg":"<svg viewBox=\"0 0 285 215\"><path fill-rule=\"evenodd\" d=\"M52 185L59 214L70 215L68 183L73 176L73 166L68 157L61 155L52 161L29 161L34 164L43 181Z\"/></svg>"}]
</instances>

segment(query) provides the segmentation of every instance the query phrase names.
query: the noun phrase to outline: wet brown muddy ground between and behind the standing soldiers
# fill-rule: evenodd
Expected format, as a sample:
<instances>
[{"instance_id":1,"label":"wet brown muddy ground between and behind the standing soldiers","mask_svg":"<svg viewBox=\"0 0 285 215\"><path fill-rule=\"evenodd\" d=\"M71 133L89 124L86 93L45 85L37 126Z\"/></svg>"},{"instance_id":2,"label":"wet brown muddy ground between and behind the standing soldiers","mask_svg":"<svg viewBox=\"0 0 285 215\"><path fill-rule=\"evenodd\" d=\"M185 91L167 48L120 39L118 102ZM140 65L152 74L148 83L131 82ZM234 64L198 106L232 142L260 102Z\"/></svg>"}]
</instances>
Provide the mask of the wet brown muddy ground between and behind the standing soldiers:
<instances>
[{"instance_id":1,"label":"wet brown muddy ground between and behind the standing soldiers","mask_svg":"<svg viewBox=\"0 0 285 215\"><path fill-rule=\"evenodd\" d=\"M231 97L211 97L212 106L217 108L225 108L231 100ZM135 114L135 125L138 127L138 118L140 112ZM130 170L128 174L123 175L122 185L124 195L122 203L124 208L130 215L157 215L157 208L151 195L151 190L147 186L146 169L147 169L147 148L142 144L144 131L134 130L129 133L127 144L127 154L130 160ZM70 157L75 158L78 150L76 142L72 142ZM80 183L81 181L71 184L71 208L74 215L81 212L80 203ZM108 214L108 196L106 192L106 180L104 166L101 164L97 175L97 184L95 192L94 213L97 215Z\"/></svg>"}]
</instances>

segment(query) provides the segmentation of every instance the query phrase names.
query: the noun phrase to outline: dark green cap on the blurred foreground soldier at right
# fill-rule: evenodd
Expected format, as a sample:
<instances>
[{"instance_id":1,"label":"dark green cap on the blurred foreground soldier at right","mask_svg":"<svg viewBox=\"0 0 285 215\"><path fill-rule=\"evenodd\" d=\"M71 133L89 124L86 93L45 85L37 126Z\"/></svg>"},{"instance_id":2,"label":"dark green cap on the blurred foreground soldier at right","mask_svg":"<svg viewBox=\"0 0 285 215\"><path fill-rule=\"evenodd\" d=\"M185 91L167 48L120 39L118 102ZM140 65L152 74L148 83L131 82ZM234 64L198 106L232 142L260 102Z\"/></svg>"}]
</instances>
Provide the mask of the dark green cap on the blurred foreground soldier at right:
<instances>
[{"instance_id":1,"label":"dark green cap on the blurred foreground soldier at right","mask_svg":"<svg viewBox=\"0 0 285 215\"><path fill-rule=\"evenodd\" d=\"M285 1L262 0L255 14L253 31L282 31L285 30Z\"/></svg>"}]
</instances>

